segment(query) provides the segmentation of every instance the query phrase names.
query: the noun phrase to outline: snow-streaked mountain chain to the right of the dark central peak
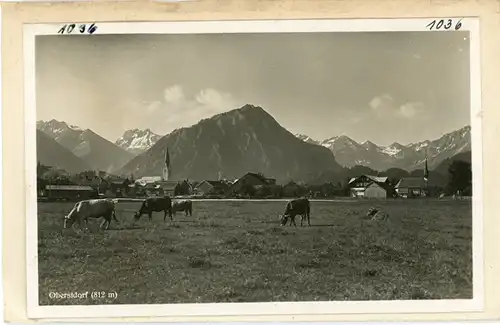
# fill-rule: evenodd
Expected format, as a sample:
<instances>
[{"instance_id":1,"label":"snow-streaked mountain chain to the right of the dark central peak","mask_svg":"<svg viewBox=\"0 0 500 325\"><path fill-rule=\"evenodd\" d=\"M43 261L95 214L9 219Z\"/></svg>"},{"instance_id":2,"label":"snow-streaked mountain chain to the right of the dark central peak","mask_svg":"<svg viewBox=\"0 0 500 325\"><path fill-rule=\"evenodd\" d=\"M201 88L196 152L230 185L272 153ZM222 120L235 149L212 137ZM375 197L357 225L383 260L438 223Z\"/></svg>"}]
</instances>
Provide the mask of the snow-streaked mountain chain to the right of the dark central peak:
<instances>
[{"instance_id":1,"label":"snow-streaked mountain chain to the right of the dark central peak","mask_svg":"<svg viewBox=\"0 0 500 325\"><path fill-rule=\"evenodd\" d=\"M378 146L371 141L360 144L345 135L324 141L315 141L306 135L297 138L308 139L309 143L330 149L339 164L344 167L363 165L379 171L389 168L408 171L423 168L426 153L429 168L433 169L444 160L471 150L470 126L444 134L439 139L408 145L394 142L389 146Z\"/></svg>"}]
</instances>

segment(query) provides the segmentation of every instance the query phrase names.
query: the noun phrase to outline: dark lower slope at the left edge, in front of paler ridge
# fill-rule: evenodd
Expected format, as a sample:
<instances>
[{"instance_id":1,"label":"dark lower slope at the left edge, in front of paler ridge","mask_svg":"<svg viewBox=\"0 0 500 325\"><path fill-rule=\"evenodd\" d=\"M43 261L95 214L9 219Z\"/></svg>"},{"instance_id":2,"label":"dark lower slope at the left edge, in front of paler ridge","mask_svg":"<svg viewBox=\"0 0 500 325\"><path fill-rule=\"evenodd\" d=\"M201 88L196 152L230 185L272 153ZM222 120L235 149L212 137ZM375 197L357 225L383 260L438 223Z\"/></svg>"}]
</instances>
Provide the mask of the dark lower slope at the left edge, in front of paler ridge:
<instances>
[{"instance_id":1,"label":"dark lower slope at the left edge, in front of paler ridge","mask_svg":"<svg viewBox=\"0 0 500 325\"><path fill-rule=\"evenodd\" d=\"M36 155L42 165L64 169L70 173L91 169L86 161L40 130L36 131Z\"/></svg>"}]
</instances>

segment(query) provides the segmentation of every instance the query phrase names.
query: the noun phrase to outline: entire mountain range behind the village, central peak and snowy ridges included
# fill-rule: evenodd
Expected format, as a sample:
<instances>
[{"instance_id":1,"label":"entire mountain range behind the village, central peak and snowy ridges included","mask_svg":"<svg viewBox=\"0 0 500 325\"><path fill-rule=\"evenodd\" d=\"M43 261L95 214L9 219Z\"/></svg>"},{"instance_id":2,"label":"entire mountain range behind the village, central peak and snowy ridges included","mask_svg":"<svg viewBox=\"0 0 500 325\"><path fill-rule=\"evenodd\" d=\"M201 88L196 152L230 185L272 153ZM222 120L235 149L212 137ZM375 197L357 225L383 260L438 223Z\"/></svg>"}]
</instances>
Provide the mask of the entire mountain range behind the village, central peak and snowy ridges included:
<instances>
[{"instance_id":1,"label":"entire mountain range behind the village, central peak and snowy ridges included","mask_svg":"<svg viewBox=\"0 0 500 325\"><path fill-rule=\"evenodd\" d=\"M332 132L333 133L333 132ZM169 148L173 179L238 178L258 172L279 182L312 181L355 166L375 171L422 169L446 173L452 160L470 162L470 126L407 145L358 143L346 135L313 140L293 134L263 108L245 105L167 135L127 130L114 143L55 119L37 122L37 158L68 172L102 170L134 177L161 175Z\"/></svg>"}]
</instances>

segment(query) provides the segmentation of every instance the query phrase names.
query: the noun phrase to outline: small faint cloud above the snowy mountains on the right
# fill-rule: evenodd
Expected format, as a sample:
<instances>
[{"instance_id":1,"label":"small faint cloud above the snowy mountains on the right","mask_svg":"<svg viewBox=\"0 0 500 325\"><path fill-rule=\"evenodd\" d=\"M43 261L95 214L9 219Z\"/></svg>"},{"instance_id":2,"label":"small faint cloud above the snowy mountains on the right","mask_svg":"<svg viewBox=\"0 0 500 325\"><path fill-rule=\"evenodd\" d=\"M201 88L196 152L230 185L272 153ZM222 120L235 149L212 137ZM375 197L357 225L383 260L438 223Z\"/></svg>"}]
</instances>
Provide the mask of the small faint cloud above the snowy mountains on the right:
<instances>
[{"instance_id":1,"label":"small faint cloud above the snowy mountains on the right","mask_svg":"<svg viewBox=\"0 0 500 325\"><path fill-rule=\"evenodd\" d=\"M411 119L421 114L425 108L422 102L404 102L398 104L389 94L375 96L368 105L372 112L381 118L398 117Z\"/></svg>"}]
</instances>

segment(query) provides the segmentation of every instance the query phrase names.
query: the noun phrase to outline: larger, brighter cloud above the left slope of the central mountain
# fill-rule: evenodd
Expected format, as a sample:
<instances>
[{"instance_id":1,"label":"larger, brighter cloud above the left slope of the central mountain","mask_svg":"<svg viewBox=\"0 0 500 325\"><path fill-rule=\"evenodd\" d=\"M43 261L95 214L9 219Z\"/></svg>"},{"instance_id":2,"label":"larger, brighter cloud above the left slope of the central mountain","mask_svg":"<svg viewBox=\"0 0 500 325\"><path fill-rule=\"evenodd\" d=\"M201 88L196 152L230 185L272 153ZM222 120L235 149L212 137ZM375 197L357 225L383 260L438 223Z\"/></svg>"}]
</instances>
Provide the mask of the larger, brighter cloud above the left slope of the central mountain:
<instances>
[{"instance_id":1,"label":"larger, brighter cloud above the left slope of the central mountain","mask_svg":"<svg viewBox=\"0 0 500 325\"><path fill-rule=\"evenodd\" d=\"M182 86L173 85L164 90L162 101L151 102L146 111L147 119L155 124L152 129L167 133L240 106L243 103L238 103L229 93L205 88L187 97Z\"/></svg>"}]
</instances>

